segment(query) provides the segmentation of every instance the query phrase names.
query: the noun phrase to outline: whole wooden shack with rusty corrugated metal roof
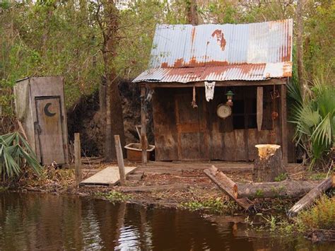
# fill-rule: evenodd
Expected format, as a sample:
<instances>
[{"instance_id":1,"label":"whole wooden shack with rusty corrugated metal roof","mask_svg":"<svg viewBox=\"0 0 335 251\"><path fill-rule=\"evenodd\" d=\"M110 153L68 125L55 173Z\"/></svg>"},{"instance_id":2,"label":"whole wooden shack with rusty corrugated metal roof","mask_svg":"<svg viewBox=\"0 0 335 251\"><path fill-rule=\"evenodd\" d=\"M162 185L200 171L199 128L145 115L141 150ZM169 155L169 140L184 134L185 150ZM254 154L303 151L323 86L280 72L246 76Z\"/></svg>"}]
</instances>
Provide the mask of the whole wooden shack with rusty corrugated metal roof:
<instances>
[{"instance_id":1,"label":"whole wooden shack with rusty corrugated metal roof","mask_svg":"<svg viewBox=\"0 0 335 251\"><path fill-rule=\"evenodd\" d=\"M292 33L291 19L158 25L149 69L134 79L142 88L143 148L152 95L156 160L249 161L256 144L279 144L287 162ZM208 83L215 84L209 101Z\"/></svg>"}]
</instances>

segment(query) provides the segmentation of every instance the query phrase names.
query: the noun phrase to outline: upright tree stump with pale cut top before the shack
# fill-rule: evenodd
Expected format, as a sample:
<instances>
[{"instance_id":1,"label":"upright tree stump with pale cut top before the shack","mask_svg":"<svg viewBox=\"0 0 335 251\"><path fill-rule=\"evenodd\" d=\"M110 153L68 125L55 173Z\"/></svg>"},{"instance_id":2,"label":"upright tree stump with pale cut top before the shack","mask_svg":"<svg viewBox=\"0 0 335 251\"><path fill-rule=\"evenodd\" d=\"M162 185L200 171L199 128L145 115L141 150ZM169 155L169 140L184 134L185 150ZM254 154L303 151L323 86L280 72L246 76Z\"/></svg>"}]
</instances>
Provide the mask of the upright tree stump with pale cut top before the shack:
<instances>
[{"instance_id":1,"label":"upright tree stump with pale cut top before the shack","mask_svg":"<svg viewBox=\"0 0 335 251\"><path fill-rule=\"evenodd\" d=\"M275 181L275 178L285 174L281 146L264 144L256 145L257 157L254 160L254 182Z\"/></svg>"}]
</instances>

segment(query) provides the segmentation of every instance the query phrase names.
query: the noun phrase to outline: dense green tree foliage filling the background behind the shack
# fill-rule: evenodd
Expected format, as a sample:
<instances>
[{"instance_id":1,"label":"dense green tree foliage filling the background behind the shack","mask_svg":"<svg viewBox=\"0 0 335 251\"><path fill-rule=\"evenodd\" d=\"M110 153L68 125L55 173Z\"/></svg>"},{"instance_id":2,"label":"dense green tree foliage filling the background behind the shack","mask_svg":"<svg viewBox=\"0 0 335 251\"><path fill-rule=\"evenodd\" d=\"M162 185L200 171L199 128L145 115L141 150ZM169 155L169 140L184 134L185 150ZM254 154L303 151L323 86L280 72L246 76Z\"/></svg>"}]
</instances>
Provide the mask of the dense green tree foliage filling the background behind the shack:
<instances>
[{"instance_id":1,"label":"dense green tree foliage filling the background behind the shack","mask_svg":"<svg viewBox=\"0 0 335 251\"><path fill-rule=\"evenodd\" d=\"M302 78L307 85L319 77L334 84L334 1L302 3L298 13L304 27ZM103 48L110 23L102 21L101 13L108 4L117 9L117 28L110 37L113 52L106 62ZM297 20L293 0L4 0L0 2L2 116L13 115L11 87L25 76L64 76L68 106L105 84L106 72L113 71L113 84L119 78L134 78L148 65L155 25L188 23L190 10L197 12L199 23ZM106 12L105 18L109 18Z\"/></svg>"}]
</instances>

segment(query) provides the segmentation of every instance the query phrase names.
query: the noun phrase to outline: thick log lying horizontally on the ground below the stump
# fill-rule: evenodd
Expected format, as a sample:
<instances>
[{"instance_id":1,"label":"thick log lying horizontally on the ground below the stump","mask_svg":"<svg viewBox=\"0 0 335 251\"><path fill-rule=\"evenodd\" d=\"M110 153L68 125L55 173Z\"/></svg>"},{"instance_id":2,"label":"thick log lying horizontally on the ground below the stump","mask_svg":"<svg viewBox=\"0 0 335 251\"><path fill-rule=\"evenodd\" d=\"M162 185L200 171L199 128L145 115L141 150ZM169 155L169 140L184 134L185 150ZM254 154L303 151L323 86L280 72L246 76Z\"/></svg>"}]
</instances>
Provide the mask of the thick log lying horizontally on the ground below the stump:
<instances>
[{"instance_id":1,"label":"thick log lying horizontally on the ground below the stump","mask_svg":"<svg viewBox=\"0 0 335 251\"><path fill-rule=\"evenodd\" d=\"M315 181L281 181L237 184L237 198L297 198L310 192L318 182Z\"/></svg>"}]
</instances>

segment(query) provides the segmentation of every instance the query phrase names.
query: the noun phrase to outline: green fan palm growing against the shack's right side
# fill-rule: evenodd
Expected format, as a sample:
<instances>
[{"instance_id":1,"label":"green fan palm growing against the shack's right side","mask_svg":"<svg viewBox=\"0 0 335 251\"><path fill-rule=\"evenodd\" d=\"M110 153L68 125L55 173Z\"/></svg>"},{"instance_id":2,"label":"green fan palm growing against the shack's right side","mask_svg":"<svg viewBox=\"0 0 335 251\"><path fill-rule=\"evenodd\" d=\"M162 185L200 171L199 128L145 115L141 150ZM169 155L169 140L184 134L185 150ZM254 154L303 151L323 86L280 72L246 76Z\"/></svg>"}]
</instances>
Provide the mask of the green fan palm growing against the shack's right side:
<instances>
[{"instance_id":1,"label":"green fan palm growing against the shack's right side","mask_svg":"<svg viewBox=\"0 0 335 251\"><path fill-rule=\"evenodd\" d=\"M315 78L302 98L296 81L288 85L290 122L295 124L294 139L310 158L310 169L329 162L327 155L335 139L335 88L324 78Z\"/></svg>"}]
</instances>

